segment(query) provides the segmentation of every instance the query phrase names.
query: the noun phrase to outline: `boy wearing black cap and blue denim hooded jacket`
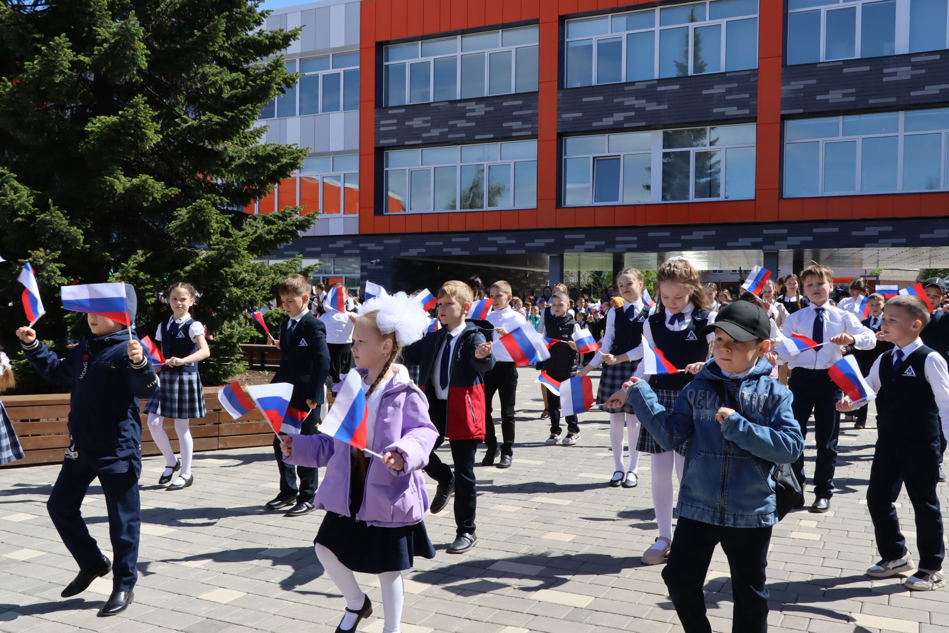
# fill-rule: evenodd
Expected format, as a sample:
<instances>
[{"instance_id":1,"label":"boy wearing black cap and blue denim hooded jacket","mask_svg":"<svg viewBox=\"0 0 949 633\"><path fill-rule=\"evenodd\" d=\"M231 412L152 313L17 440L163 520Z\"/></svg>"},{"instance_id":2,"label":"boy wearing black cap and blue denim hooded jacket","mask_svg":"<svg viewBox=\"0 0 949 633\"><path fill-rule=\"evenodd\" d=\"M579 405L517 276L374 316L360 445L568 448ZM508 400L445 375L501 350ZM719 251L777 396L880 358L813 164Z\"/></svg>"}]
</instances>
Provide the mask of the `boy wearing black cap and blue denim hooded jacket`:
<instances>
[{"instance_id":1,"label":"boy wearing black cap and blue denim hooded jacket","mask_svg":"<svg viewBox=\"0 0 949 633\"><path fill-rule=\"evenodd\" d=\"M791 409L791 392L771 378L767 313L739 301L723 307L713 325L714 358L667 412L648 382L623 384L606 406L628 399L636 416L667 451L688 441L679 486L676 526L662 579L686 633L711 631L702 586L716 545L732 572L735 633L768 630L768 546L778 521L775 464L790 464L804 449Z\"/></svg>"}]
</instances>

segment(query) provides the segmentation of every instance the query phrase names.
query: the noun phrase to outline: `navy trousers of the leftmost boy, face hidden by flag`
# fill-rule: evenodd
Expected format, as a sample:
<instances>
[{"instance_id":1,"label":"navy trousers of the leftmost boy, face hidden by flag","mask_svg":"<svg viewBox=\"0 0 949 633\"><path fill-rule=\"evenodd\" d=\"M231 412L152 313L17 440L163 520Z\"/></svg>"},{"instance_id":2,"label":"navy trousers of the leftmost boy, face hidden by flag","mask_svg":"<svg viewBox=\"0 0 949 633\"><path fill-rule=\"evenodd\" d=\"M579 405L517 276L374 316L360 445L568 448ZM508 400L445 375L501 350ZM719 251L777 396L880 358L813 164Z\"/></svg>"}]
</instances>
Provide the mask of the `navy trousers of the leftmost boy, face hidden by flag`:
<instances>
[{"instance_id":1,"label":"navy trousers of the leftmost boy, face hidden by flag","mask_svg":"<svg viewBox=\"0 0 949 633\"><path fill-rule=\"evenodd\" d=\"M121 465L123 463L123 465ZM131 591L138 580L141 502L139 475L141 459L120 462L121 473L97 473L82 457L65 458L53 491L47 500L47 512L63 545L80 569L88 569L102 560L102 549L85 526L81 508L89 484L97 477L105 496L109 515L109 540L112 542L112 590Z\"/></svg>"}]
</instances>

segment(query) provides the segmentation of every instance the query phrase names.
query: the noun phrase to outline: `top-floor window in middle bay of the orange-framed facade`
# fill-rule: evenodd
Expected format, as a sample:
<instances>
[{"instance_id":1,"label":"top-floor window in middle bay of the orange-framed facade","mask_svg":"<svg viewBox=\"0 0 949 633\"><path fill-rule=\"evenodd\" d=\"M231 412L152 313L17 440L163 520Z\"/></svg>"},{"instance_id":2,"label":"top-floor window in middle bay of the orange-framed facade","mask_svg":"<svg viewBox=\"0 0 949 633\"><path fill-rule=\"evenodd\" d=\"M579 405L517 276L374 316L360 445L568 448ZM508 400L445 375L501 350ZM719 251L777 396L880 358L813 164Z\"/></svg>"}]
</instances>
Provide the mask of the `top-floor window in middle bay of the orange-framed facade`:
<instances>
[{"instance_id":1,"label":"top-floor window in middle bay of the orange-framed facade","mask_svg":"<svg viewBox=\"0 0 949 633\"><path fill-rule=\"evenodd\" d=\"M757 12L758 0L713 0L568 20L565 85L756 68Z\"/></svg>"}]
</instances>

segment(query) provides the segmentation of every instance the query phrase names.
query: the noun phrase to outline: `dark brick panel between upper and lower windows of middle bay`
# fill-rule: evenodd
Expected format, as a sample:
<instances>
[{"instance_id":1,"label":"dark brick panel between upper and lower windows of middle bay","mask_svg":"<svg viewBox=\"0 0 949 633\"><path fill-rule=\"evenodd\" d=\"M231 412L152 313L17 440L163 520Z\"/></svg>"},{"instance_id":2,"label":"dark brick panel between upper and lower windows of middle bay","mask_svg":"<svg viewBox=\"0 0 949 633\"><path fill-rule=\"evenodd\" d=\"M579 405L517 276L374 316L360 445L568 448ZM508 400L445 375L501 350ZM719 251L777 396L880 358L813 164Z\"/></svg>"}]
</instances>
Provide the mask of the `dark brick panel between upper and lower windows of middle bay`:
<instances>
[{"instance_id":1,"label":"dark brick panel between upper and lower windows of middle bay","mask_svg":"<svg viewBox=\"0 0 949 633\"><path fill-rule=\"evenodd\" d=\"M758 71L569 88L557 93L557 102L562 134L752 120Z\"/></svg>"}]
</instances>

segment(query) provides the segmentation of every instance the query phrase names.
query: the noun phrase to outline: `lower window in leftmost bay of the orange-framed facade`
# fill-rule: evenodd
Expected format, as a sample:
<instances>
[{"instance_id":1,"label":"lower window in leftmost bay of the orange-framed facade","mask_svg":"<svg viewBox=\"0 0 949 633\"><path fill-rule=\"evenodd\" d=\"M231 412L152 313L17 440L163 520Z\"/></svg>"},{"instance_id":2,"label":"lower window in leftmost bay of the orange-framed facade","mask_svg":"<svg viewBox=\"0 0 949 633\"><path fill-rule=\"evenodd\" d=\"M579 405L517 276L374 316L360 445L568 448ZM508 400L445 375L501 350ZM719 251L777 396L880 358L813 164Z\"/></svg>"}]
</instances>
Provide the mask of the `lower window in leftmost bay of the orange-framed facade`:
<instances>
[{"instance_id":1,"label":"lower window in leftmost bay of the orange-framed facade","mask_svg":"<svg viewBox=\"0 0 949 633\"><path fill-rule=\"evenodd\" d=\"M537 141L385 153L386 213L532 209Z\"/></svg>"}]
</instances>

